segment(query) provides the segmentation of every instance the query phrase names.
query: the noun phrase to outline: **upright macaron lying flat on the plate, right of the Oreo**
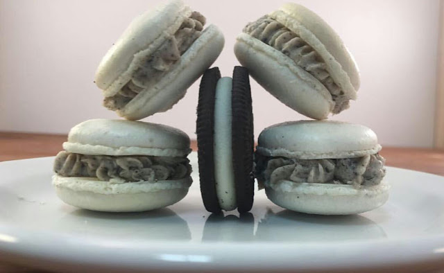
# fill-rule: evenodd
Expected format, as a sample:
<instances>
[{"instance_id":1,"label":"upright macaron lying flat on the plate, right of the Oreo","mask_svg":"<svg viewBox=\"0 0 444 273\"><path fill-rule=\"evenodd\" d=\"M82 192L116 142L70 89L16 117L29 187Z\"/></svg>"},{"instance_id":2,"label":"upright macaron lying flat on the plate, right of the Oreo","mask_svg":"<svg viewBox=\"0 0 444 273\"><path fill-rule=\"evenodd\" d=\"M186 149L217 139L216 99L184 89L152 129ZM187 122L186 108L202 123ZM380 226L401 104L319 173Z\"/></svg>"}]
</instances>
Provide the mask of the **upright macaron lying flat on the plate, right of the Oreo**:
<instances>
[{"instance_id":1,"label":"upright macaron lying flat on the plate, right of the Oreo","mask_svg":"<svg viewBox=\"0 0 444 273\"><path fill-rule=\"evenodd\" d=\"M375 132L338 121L296 121L259 135L255 175L278 206L345 215L382 206L390 186Z\"/></svg>"}]
</instances>

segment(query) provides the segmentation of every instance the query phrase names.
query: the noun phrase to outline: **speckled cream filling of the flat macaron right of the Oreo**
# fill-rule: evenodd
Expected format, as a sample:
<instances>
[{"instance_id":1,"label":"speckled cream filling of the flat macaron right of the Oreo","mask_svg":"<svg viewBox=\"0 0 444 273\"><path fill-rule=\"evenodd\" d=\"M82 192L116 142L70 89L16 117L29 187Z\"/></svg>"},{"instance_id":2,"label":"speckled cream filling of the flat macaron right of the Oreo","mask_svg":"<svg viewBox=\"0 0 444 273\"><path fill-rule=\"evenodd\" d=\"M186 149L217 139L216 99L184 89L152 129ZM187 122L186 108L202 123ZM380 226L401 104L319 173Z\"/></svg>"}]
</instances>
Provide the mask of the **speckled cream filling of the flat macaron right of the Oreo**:
<instances>
[{"instance_id":1,"label":"speckled cream filling of the flat macaron right of the Oreo","mask_svg":"<svg viewBox=\"0 0 444 273\"><path fill-rule=\"evenodd\" d=\"M259 186L287 180L296 183L374 186L386 174L379 154L345 159L291 159L255 154Z\"/></svg>"}]
</instances>

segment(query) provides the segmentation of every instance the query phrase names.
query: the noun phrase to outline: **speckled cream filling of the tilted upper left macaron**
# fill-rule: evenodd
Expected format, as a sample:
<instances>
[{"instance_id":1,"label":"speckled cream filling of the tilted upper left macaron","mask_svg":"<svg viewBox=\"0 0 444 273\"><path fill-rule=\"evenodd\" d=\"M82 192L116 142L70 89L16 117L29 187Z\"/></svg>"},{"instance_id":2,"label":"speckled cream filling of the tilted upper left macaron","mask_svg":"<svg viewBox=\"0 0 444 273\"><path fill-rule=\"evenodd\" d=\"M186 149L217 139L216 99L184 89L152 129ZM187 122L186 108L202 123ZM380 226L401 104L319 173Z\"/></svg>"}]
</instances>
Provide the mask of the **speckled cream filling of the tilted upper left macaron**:
<instances>
[{"instance_id":1,"label":"speckled cream filling of the tilted upper left macaron","mask_svg":"<svg viewBox=\"0 0 444 273\"><path fill-rule=\"evenodd\" d=\"M146 57L117 94L103 100L103 105L113 111L121 109L142 90L154 85L200 36L205 21L205 17L199 12L192 12L174 35L168 37L153 54Z\"/></svg>"}]
</instances>

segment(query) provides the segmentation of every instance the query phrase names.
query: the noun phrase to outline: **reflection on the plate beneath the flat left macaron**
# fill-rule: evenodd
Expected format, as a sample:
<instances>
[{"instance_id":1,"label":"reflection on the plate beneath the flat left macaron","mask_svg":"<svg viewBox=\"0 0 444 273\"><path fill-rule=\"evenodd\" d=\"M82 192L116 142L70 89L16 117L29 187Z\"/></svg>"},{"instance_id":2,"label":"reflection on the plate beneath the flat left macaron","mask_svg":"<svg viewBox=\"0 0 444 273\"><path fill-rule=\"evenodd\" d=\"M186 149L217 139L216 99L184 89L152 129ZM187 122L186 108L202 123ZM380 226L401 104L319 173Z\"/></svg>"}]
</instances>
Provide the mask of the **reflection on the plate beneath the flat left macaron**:
<instances>
[{"instance_id":1,"label":"reflection on the plate beneath the flat left macaron","mask_svg":"<svg viewBox=\"0 0 444 273\"><path fill-rule=\"evenodd\" d=\"M137 213L108 213L77 209L56 222L60 231L85 236L115 236L119 239L191 240L185 220L171 209Z\"/></svg>"}]
</instances>

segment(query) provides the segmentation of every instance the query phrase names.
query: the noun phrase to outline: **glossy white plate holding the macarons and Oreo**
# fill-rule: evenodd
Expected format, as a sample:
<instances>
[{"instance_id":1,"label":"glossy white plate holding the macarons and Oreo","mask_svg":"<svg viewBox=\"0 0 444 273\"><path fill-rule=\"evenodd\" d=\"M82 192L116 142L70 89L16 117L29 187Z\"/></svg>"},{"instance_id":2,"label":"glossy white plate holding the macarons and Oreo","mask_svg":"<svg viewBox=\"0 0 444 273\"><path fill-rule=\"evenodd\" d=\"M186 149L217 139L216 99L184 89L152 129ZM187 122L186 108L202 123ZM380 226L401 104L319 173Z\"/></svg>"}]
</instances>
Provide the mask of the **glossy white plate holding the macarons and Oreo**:
<instances>
[{"instance_id":1,"label":"glossy white plate holding the macarons and Oreo","mask_svg":"<svg viewBox=\"0 0 444 273\"><path fill-rule=\"evenodd\" d=\"M146 213L62 203L52 157L0 163L0 261L69 272L121 270L404 270L444 266L444 177L387 168L388 202L368 213L316 216L255 195L250 215L207 213L194 184Z\"/></svg>"}]
</instances>

